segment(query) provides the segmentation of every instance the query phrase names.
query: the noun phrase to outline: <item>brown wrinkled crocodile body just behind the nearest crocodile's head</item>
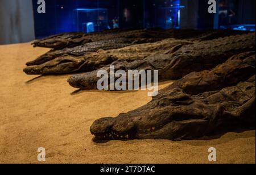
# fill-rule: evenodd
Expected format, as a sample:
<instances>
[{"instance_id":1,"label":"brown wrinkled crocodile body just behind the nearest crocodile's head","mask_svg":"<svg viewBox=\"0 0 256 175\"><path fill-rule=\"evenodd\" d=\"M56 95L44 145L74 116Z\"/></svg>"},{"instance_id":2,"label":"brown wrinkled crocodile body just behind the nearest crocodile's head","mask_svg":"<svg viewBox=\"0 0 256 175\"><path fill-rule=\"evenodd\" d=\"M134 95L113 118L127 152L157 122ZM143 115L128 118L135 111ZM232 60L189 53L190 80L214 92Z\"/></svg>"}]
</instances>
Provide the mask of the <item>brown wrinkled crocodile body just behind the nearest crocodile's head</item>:
<instances>
[{"instance_id":1,"label":"brown wrinkled crocodile body just behind the nearest crocodile's head","mask_svg":"<svg viewBox=\"0 0 256 175\"><path fill-rule=\"evenodd\" d=\"M237 85L254 74L255 52L245 52L230 57L214 69L192 72L179 81L175 81L173 86L183 89L188 94L199 94L205 89L213 91Z\"/></svg>"}]
</instances>

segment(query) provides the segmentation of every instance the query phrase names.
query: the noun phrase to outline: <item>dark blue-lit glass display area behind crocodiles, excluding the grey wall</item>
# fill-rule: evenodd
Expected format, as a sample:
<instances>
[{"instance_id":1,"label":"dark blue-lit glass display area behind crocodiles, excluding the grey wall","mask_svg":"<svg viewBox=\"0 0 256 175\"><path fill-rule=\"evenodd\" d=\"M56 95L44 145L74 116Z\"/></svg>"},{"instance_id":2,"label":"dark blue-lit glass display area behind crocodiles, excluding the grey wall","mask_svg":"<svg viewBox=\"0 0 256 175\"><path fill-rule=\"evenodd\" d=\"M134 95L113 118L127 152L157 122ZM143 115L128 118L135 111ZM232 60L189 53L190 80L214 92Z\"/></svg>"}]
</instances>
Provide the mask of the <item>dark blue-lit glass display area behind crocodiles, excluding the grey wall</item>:
<instances>
[{"instance_id":1,"label":"dark blue-lit glass display area behind crocodiles, excluding the grey wall","mask_svg":"<svg viewBox=\"0 0 256 175\"><path fill-rule=\"evenodd\" d=\"M254 0L216 0L217 14L209 14L208 2L200 0L45 1L46 14L38 14L37 1L33 1L36 38L61 32L98 32L112 28L255 30Z\"/></svg>"}]
</instances>

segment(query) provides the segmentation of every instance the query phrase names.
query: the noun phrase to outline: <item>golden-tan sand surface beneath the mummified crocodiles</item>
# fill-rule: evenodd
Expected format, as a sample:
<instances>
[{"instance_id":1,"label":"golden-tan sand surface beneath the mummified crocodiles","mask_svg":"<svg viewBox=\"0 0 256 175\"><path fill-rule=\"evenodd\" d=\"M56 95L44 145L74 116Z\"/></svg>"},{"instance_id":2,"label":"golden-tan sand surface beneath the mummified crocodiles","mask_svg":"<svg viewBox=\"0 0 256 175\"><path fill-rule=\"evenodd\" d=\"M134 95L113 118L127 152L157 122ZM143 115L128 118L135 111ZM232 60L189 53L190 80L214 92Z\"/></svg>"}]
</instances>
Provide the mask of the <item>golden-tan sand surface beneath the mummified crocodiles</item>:
<instances>
[{"instance_id":1,"label":"golden-tan sand surface beneath the mummified crocodiles","mask_svg":"<svg viewBox=\"0 0 256 175\"><path fill-rule=\"evenodd\" d=\"M131 140L94 143L89 127L104 116L117 116L151 100L146 91L80 91L65 76L27 76L26 61L47 52L29 43L0 45L0 163L255 163L255 131L174 142ZM31 80L31 81L30 81ZM170 85L166 82L160 87Z\"/></svg>"}]
</instances>

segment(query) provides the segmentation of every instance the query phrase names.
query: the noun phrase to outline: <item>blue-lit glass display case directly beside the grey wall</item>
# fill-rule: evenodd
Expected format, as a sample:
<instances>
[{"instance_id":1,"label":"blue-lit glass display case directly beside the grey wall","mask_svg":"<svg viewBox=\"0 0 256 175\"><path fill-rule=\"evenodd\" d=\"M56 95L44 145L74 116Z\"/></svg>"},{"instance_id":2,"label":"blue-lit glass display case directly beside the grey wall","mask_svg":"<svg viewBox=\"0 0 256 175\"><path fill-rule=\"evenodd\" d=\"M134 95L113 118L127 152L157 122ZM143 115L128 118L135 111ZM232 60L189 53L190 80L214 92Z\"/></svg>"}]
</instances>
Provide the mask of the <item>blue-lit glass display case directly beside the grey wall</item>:
<instances>
[{"instance_id":1,"label":"blue-lit glass display case directly beside the grey wall","mask_svg":"<svg viewBox=\"0 0 256 175\"><path fill-rule=\"evenodd\" d=\"M118 26L119 0L45 1L46 14L38 14L37 1L33 1L36 38L61 32L98 32Z\"/></svg>"}]
</instances>

